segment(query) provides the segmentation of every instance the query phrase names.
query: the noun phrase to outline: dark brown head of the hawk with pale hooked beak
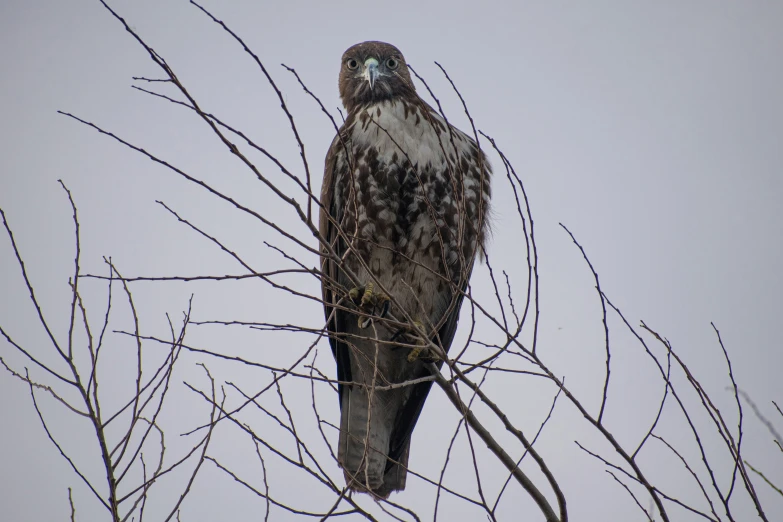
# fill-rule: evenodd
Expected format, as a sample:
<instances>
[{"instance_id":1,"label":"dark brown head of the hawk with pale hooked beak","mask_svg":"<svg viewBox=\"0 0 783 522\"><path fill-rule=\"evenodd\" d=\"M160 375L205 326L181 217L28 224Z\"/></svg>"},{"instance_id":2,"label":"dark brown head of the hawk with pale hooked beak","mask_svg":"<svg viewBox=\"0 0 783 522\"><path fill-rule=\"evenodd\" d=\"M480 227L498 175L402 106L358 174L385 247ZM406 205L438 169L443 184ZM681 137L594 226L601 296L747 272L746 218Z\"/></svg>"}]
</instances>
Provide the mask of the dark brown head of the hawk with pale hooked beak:
<instances>
[{"instance_id":1,"label":"dark brown head of the hawk with pale hooked beak","mask_svg":"<svg viewBox=\"0 0 783 522\"><path fill-rule=\"evenodd\" d=\"M415 96L408 66L399 49L383 42L362 42L343 54L340 98L348 112L362 105Z\"/></svg>"}]
</instances>

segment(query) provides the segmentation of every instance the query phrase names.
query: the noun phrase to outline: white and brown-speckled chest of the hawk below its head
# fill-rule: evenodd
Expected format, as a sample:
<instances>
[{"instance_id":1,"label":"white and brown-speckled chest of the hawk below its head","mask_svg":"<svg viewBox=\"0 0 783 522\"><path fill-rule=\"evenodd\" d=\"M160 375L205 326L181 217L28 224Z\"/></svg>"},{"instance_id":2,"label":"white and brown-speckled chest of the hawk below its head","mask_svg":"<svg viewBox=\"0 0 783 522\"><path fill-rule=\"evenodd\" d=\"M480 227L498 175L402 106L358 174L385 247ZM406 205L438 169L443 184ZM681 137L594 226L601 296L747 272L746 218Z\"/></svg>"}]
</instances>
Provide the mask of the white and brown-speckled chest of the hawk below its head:
<instances>
[{"instance_id":1,"label":"white and brown-speckled chest of the hawk below its head","mask_svg":"<svg viewBox=\"0 0 783 522\"><path fill-rule=\"evenodd\" d=\"M378 104L357 117L335 187L351 233L396 249L432 236L453 206L449 143L438 129L402 104Z\"/></svg>"}]
</instances>

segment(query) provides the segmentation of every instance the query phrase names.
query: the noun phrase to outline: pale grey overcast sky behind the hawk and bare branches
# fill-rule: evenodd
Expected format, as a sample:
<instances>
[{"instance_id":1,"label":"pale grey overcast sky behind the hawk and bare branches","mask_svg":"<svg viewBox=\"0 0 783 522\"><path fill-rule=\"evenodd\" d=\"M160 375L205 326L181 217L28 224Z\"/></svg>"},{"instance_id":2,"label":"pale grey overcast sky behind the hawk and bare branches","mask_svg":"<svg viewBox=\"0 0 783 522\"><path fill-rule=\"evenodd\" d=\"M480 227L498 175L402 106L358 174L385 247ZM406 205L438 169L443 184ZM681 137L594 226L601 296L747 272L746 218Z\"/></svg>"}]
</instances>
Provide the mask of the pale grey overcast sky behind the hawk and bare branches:
<instances>
[{"instance_id":1,"label":"pale grey overcast sky behind the hawk and bare branches","mask_svg":"<svg viewBox=\"0 0 783 522\"><path fill-rule=\"evenodd\" d=\"M298 150L274 93L219 27L184 0L118 0L112 5L167 59L206 110L245 130L301 174ZM302 132L316 186L334 132L278 64L295 67L336 113L342 52L363 40L388 41L428 79L451 121L469 130L459 101L433 61L447 68L478 127L498 140L526 185L540 254L539 349L591 411L599 405L603 383L600 305L590 272L559 222L569 226L586 248L613 302L632 324L643 319L672 342L725 408L731 426L736 425L736 411L733 396L725 390L730 382L710 321L721 331L740 387L777 422L778 429L783 428L783 419L774 416L770 403L783 401L783 3L211 1L205 5L245 39L279 81ZM290 243L174 173L56 114L58 109L161 155L264 215L282 220L298 237L315 244L294 222L290 210L230 157L203 122L185 109L130 89L132 76L159 77L160 73L99 2L4 0L0 4L0 207L14 228L44 312L61 337L67 333L73 232L58 178L69 186L79 207L85 272L104 273L101 256L112 256L126 276L243 271L214 245L177 223L155 203L158 199L241 252L257 270L287 266L263 245L264 240L283 247ZM174 93L166 86L154 87ZM259 159L258 165L274 180L281 180L268 163ZM495 236L490 255L496 269L518 274L515 288L521 294L524 246L514 239L520 237L514 228L515 210L498 160L495 166ZM290 183L282 186L292 188ZM317 262L310 254L302 261L308 266ZM486 281L477 277L477 297L491 302ZM290 281L317 292L312 279ZM105 287L95 282L83 285L93 322L100 324ZM322 322L316 303L274 292L261 282L136 283L133 289L142 311L142 330L161 337L168 328L164 314L178 320L191 293L195 293L198 320L314 327ZM119 288L115 291L119 294ZM127 328L127 306L117 303L114 326ZM0 238L0 324L42 359L54 360L5 236ZM616 365L606 419L623 443L633 448L654 417L662 385L641 348L614 316L610 327ZM214 327L194 328L191 335L189 341L197 346L277 365L295 360L309 342L304 335ZM102 390L110 408L130 390L128 365L133 351L128 340L118 335L110 337L107 346ZM157 349L152 344L147 347L151 354ZM7 344L0 344L0 357L15 368L26 364ZM202 361L209 363L219 382L235 382L248 392L269 382L269 374L261 370L183 355L164 409L172 455L188 443L178 434L197 426L208 414L204 403L182 384L188 381L205 388L207 381L196 366ZM334 376L325 343L317 366ZM43 378L40 372L33 375ZM314 424L307 424L309 386L299 381L286 383L284 389L289 405L301 415L300 429L314 432ZM319 389L324 393L319 396L322 414L337 422L336 398L327 388ZM533 378L493 375L487 393L532 434L549 409L554 390ZM236 403L236 394L232 397ZM276 397L268 400L272 405ZM103 485L94 433L86 421L64 413L53 401L42 401L64 446ZM483 414L483 418L488 417ZM108 520L47 440L26 387L4 370L0 372L0 419L2 520L67 519L68 487L74 488L77 520ZM433 390L413 437L414 469L437 477L457 420L443 394ZM783 484L783 455L748 409L745 421L746 458ZM278 428L255 412L248 412L247 422L259 433L279 436L274 431ZM687 437L676 435L687 432L673 410L662 433L682 444L683 451L698 462ZM334 443L336 433L327 430L327 435ZM210 454L261 484L247 436L223 426L215 437ZM313 437L329 473L342 484L320 437ZM446 482L475 494L464 435L459 440L462 454L449 467ZM572 406L565 402L558 406L539 449L561 482L571 519L644 520L630 497L574 440L619 462ZM706 444L718 451L715 440L708 437ZM511 447L517 455L516 446ZM486 452L482 455L488 484L503 480L502 472L491 478L497 466ZM696 498L694 484L670 454L651 449L641 462L668 492ZM530 463L527 466L532 469ZM279 460L268 457L267 468L276 498L321 511L333 503L333 495L322 486L303 480ZM728 476L725 461L719 469L724 478ZM540 476L534 477L541 481ZM153 493L148 520L168 512L181 479L156 485L160 489ZM754 483L769 519L783 520L783 498L756 477ZM726 484L726 480L721 483ZM543 482L540 485L544 488ZM648 500L642 498L646 507ZM421 481L409 478L408 490L392 500L410 506L422 519L432 518L433 488ZM372 505L367 499L362 502ZM485 520L480 510L453 497L442 502L442 520ZM182 520L259 520L264 507L263 500L207 463L183 506ZM669 509L673 520L695 520L674 506ZM504 497L498 515L505 520L540 519L520 489ZM754 519L746 498L737 499L735 516ZM281 510L270 517L291 518Z\"/></svg>"}]
</instances>

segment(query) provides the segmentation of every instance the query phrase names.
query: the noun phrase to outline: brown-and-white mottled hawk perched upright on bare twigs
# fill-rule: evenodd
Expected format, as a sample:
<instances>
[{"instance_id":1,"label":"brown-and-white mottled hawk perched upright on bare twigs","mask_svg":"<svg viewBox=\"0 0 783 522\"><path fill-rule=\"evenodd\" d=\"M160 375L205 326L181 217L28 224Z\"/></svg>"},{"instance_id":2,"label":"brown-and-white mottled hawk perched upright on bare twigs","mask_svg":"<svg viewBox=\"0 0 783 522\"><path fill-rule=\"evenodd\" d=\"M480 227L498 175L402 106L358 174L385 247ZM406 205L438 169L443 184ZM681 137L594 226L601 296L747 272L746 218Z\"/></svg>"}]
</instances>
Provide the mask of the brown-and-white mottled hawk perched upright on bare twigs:
<instances>
[{"instance_id":1,"label":"brown-and-white mottled hawk perched upright on bare twigs","mask_svg":"<svg viewBox=\"0 0 783 522\"><path fill-rule=\"evenodd\" d=\"M350 488L386 498L405 488L432 381L392 385L430 375L430 341L447 351L454 339L487 235L491 168L416 94L393 45L345 51L339 87L348 115L326 156L320 215L327 329L346 383L338 462Z\"/></svg>"}]
</instances>

